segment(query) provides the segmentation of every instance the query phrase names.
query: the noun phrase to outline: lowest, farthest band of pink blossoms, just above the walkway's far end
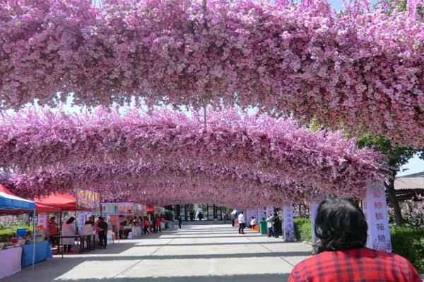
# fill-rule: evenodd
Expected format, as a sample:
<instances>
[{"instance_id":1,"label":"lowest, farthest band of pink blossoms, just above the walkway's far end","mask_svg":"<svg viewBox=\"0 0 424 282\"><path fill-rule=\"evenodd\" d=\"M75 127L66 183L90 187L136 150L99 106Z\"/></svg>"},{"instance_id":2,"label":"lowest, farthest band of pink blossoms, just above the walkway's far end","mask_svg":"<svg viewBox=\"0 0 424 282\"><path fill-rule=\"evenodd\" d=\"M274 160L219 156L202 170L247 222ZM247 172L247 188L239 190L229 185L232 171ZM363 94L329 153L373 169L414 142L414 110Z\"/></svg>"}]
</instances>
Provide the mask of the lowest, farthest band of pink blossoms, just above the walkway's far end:
<instances>
[{"instance_id":1,"label":"lowest, farthest band of pink blossoms, just above the walkway's far end","mask_svg":"<svg viewBox=\"0 0 424 282\"><path fill-rule=\"evenodd\" d=\"M216 190L221 200L227 198L240 201L233 197L235 188L246 200L252 200L254 195L275 191L274 200L300 201L317 193L334 193L350 197L363 195L363 189L350 185L336 185L334 183L313 185L307 187L295 183L284 177L267 176L264 173L255 173L240 168L205 167L170 167L158 164L133 164L131 166L80 166L69 168L68 171L40 170L34 175L12 175L9 179L13 183L13 190L25 197L40 197L54 192L72 192L75 188L89 187L102 192L102 195L113 195L118 192L125 193L132 200L139 197L144 200L146 191L154 192L155 189L164 189L172 195L174 188L183 188L178 192L188 192L194 202L204 200L212 190ZM131 186L131 190L127 190ZM194 192L200 193L194 194ZM156 195L154 192L153 194ZM194 197L200 197L194 198ZM169 196L165 197L169 199ZM163 200L163 199L160 199ZM263 201L263 199L261 200Z\"/></svg>"}]
</instances>

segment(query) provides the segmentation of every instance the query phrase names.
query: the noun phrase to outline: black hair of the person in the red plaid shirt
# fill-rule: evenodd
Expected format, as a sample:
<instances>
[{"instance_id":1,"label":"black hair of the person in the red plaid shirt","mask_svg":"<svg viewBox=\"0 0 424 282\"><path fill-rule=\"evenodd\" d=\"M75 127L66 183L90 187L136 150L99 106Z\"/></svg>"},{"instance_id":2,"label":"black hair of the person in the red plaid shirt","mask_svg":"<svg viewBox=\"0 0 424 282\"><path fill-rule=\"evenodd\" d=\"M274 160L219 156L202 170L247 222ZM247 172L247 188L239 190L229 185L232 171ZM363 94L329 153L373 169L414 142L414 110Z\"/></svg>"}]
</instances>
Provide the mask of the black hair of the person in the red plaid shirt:
<instances>
[{"instance_id":1,"label":"black hair of the person in the red plaid shirt","mask_svg":"<svg viewBox=\"0 0 424 282\"><path fill-rule=\"evenodd\" d=\"M328 198L319 204L315 218L318 252L364 247L367 229L365 214L357 205L343 198Z\"/></svg>"}]
</instances>

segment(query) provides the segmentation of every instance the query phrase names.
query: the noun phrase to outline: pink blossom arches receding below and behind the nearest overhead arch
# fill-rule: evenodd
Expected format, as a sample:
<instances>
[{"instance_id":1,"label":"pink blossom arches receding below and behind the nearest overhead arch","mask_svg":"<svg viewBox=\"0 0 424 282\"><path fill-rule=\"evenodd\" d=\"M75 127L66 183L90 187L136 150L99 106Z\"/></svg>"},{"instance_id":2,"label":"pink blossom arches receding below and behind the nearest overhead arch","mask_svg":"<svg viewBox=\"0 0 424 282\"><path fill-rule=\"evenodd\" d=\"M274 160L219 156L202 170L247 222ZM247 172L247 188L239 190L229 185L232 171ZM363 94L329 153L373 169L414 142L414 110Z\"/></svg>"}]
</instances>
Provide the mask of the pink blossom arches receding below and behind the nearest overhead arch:
<instances>
[{"instance_id":1,"label":"pink blossom arches receding below and behind the nearest overhead arch","mask_svg":"<svg viewBox=\"0 0 424 282\"><path fill-rule=\"evenodd\" d=\"M169 109L4 114L0 167L15 172L20 195L89 187L113 199L245 206L360 197L382 178L381 156L340 132L228 108L207 117L205 128L201 116Z\"/></svg>"}]
</instances>

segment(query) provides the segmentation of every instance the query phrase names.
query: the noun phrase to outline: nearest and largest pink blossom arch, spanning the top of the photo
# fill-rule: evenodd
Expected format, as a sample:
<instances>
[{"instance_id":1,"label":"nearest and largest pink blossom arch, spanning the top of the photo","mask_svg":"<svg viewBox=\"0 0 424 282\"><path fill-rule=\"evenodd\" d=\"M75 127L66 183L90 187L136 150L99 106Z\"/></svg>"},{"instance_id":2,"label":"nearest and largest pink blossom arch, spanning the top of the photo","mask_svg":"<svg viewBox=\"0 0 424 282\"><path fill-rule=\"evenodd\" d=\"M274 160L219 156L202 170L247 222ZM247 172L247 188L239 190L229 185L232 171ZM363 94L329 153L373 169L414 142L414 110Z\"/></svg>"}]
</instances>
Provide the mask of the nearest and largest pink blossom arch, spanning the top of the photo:
<instances>
[{"instance_id":1,"label":"nearest and largest pink blossom arch, spanning the top of the photo","mask_svg":"<svg viewBox=\"0 0 424 282\"><path fill-rule=\"evenodd\" d=\"M237 102L424 145L416 9L267 2L2 1L1 106Z\"/></svg>"}]
</instances>

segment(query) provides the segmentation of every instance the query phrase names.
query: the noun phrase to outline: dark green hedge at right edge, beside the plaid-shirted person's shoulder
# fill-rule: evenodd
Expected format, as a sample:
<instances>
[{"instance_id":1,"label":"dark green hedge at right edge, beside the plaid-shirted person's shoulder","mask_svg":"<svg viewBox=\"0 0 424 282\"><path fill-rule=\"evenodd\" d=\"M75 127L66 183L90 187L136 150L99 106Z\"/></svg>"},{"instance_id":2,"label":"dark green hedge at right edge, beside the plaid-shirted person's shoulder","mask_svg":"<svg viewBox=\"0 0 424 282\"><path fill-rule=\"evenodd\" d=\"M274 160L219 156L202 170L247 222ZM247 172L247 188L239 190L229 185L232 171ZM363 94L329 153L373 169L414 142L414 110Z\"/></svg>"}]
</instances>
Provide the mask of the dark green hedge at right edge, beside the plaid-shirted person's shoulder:
<instances>
[{"instance_id":1,"label":"dark green hedge at right edge, beside the plaid-shirted person's shoulder","mask_svg":"<svg viewBox=\"0 0 424 282\"><path fill-rule=\"evenodd\" d=\"M424 228L392 226L390 235L393 252L424 271Z\"/></svg>"}]
</instances>

